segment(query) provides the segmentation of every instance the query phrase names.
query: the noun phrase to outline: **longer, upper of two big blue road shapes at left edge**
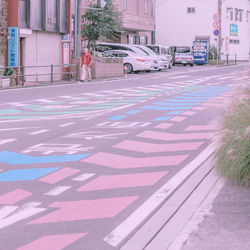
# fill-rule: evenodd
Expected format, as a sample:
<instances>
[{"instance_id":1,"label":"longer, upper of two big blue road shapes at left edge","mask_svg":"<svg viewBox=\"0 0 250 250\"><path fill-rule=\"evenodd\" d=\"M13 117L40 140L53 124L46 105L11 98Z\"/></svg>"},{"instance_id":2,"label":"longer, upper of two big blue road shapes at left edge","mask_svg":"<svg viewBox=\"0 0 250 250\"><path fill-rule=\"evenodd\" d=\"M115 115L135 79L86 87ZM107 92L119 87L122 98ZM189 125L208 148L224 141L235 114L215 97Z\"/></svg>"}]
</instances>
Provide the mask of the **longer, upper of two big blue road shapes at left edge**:
<instances>
[{"instance_id":1,"label":"longer, upper of two big blue road shapes at left edge","mask_svg":"<svg viewBox=\"0 0 250 250\"><path fill-rule=\"evenodd\" d=\"M57 163L57 162L74 162L90 156L90 154L78 155L58 155L58 156L30 156L15 152L0 152L0 162L21 165L21 164L38 164L38 163Z\"/></svg>"}]
</instances>

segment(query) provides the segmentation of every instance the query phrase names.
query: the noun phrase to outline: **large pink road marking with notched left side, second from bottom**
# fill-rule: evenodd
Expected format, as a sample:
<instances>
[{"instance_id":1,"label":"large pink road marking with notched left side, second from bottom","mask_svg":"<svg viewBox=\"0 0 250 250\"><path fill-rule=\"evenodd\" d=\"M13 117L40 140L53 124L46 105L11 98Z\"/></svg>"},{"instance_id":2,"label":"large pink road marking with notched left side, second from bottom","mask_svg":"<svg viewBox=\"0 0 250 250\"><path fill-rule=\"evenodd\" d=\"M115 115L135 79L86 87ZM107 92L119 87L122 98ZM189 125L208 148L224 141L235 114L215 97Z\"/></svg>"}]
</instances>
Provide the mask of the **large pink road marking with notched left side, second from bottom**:
<instances>
[{"instance_id":1,"label":"large pink road marking with notched left side, second from bottom","mask_svg":"<svg viewBox=\"0 0 250 250\"><path fill-rule=\"evenodd\" d=\"M28 224L113 218L131 205L138 196L100 200L54 202L49 205L58 210L35 219Z\"/></svg>"}]
</instances>

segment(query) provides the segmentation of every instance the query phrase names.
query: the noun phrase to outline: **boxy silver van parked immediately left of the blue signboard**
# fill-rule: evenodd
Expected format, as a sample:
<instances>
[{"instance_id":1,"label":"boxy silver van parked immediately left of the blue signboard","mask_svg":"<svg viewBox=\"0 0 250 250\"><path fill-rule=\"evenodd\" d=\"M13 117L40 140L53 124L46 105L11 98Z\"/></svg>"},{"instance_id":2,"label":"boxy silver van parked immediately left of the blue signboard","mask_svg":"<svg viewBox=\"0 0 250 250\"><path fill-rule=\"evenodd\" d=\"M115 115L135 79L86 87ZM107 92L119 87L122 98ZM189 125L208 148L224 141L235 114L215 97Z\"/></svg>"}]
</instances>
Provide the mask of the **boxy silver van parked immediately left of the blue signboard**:
<instances>
[{"instance_id":1,"label":"boxy silver van parked immediately left of the blue signboard","mask_svg":"<svg viewBox=\"0 0 250 250\"><path fill-rule=\"evenodd\" d=\"M191 47L171 46L170 51L173 57L173 65L182 64L184 66L194 66L194 58Z\"/></svg>"}]
</instances>

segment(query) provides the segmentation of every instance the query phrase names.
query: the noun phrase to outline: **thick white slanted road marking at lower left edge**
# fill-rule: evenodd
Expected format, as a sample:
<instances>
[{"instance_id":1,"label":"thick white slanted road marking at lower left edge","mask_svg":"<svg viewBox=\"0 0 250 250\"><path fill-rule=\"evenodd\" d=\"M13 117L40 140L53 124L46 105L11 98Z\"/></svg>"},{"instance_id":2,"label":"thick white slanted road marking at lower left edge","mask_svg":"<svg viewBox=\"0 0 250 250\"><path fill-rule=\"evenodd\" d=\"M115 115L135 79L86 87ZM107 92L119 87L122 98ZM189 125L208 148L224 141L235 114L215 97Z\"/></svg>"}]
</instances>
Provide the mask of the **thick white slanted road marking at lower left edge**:
<instances>
[{"instance_id":1,"label":"thick white slanted road marking at lower left edge","mask_svg":"<svg viewBox=\"0 0 250 250\"><path fill-rule=\"evenodd\" d=\"M45 210L47 210L47 208L37 208L37 206L39 206L41 203L40 202L30 202L30 203L26 203L24 204L22 207L17 208L17 207L4 207L5 210L7 211L6 213L11 214L11 210L13 210L13 214L11 214L8 217L4 217L0 220L0 229L8 227L10 225L13 225L17 222L20 222L24 219L27 219L35 214L39 214ZM15 209L14 209L15 208Z\"/></svg>"}]
</instances>

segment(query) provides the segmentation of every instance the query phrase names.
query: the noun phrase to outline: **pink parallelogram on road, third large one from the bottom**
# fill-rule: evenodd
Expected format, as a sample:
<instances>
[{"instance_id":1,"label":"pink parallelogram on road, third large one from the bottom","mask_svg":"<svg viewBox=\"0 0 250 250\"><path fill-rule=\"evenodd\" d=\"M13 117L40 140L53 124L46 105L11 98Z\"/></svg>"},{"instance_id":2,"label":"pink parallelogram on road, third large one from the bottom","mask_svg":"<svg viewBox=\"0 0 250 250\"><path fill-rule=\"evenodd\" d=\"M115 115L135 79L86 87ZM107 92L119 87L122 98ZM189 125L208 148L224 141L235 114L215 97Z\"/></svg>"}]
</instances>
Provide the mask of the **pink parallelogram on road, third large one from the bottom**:
<instances>
[{"instance_id":1,"label":"pink parallelogram on road, third large one from the bottom","mask_svg":"<svg viewBox=\"0 0 250 250\"><path fill-rule=\"evenodd\" d=\"M92 182L77 189L79 192L102 189L129 188L152 186L168 172L154 172L143 174L121 174L100 176Z\"/></svg>"}]
</instances>

